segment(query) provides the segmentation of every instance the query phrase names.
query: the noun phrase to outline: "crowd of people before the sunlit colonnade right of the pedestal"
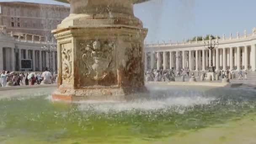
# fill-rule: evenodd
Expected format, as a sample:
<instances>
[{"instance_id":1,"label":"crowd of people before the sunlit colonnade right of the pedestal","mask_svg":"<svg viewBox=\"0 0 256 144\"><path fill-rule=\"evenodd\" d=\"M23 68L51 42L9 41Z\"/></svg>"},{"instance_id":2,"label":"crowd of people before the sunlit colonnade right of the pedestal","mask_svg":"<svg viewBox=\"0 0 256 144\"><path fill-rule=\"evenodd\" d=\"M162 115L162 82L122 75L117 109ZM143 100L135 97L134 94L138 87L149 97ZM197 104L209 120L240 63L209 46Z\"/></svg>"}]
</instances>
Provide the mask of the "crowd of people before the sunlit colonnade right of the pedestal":
<instances>
[{"instance_id":1,"label":"crowd of people before the sunlit colonnade right of the pedestal","mask_svg":"<svg viewBox=\"0 0 256 144\"><path fill-rule=\"evenodd\" d=\"M216 75L219 75L221 78L228 78L229 73L232 75L232 78L235 78L235 70L231 72L227 70L218 70L215 71ZM199 73L197 73L199 75ZM248 70L240 70L238 73L238 80L247 80ZM206 76L206 72L202 72L202 75ZM148 69L145 73L147 81L175 81L175 77L190 77L191 73L188 68L185 69Z\"/></svg>"}]
</instances>

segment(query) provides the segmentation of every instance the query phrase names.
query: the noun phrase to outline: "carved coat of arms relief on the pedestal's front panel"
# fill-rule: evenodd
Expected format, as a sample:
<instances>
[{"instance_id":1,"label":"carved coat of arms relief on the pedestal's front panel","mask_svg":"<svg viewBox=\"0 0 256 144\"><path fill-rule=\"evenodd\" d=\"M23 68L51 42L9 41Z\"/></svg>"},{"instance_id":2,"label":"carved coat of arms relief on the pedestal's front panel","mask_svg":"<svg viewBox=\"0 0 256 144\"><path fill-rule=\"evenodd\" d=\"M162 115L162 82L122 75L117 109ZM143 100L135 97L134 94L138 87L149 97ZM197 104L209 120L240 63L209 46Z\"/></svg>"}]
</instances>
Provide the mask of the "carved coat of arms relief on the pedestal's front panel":
<instances>
[{"instance_id":1,"label":"carved coat of arms relief on the pedestal's front panel","mask_svg":"<svg viewBox=\"0 0 256 144\"><path fill-rule=\"evenodd\" d=\"M85 64L85 76L92 80L104 80L112 71L114 42L92 40L80 43Z\"/></svg>"}]
</instances>

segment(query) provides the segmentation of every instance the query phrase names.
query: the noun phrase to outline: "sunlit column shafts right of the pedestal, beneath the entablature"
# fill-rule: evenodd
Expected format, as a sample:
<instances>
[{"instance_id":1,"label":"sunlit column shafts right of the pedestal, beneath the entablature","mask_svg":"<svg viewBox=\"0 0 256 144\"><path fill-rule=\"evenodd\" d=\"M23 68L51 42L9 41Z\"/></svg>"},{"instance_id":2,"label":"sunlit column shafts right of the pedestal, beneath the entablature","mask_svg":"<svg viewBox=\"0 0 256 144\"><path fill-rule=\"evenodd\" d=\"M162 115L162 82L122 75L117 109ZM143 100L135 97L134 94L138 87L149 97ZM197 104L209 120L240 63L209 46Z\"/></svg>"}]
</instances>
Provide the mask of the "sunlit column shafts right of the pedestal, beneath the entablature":
<instances>
[{"instance_id":1,"label":"sunlit column shafts right of the pedestal, beneath the entablature","mask_svg":"<svg viewBox=\"0 0 256 144\"><path fill-rule=\"evenodd\" d=\"M174 48L173 48L174 49ZM205 48L181 48L171 51L147 51L146 69L189 69L206 71L211 66L216 70L256 70L256 45L237 45L210 51ZM150 65L149 65L150 64Z\"/></svg>"}]
</instances>

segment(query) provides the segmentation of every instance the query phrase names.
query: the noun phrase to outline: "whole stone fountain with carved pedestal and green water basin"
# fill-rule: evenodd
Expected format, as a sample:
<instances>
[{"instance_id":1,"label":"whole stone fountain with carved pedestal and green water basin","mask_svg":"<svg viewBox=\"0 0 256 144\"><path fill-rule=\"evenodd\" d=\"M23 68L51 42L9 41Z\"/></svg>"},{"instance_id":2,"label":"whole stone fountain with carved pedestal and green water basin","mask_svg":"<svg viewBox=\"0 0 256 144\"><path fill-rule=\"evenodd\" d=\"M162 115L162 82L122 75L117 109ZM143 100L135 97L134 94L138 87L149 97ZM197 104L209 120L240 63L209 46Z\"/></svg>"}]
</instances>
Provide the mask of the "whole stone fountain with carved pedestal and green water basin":
<instances>
[{"instance_id":1,"label":"whole stone fountain with carved pedestal and green water basin","mask_svg":"<svg viewBox=\"0 0 256 144\"><path fill-rule=\"evenodd\" d=\"M92 1L111 1L116 6L122 4L114 2L122 1L123 6L135 2ZM255 143L253 86L149 83L149 93L133 101L55 101L119 99L136 88L144 89L143 56L139 52L143 51L147 29L133 14L127 17L129 11L125 8L122 11L127 13L119 15L117 11L92 17L90 13L73 13L53 31L58 40L61 75L57 91L52 85L0 88L1 144ZM124 51L120 57L118 53Z\"/></svg>"}]
</instances>

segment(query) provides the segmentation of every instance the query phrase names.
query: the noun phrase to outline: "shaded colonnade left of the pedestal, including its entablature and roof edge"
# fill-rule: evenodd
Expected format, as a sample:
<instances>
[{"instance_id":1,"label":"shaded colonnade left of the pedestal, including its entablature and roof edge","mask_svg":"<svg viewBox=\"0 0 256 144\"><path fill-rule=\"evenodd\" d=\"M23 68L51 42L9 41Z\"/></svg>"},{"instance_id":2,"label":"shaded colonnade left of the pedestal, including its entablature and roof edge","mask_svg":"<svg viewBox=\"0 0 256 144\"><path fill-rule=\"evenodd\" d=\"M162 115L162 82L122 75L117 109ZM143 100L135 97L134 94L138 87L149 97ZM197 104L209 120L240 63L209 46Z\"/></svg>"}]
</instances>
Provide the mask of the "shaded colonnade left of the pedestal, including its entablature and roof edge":
<instances>
[{"instance_id":1,"label":"shaded colonnade left of the pedestal, including its entablature and roof edge","mask_svg":"<svg viewBox=\"0 0 256 144\"><path fill-rule=\"evenodd\" d=\"M24 71L21 60L32 61L29 71L43 71L45 67L56 72L57 45L55 41L22 40L0 31L0 70Z\"/></svg>"}]
</instances>

